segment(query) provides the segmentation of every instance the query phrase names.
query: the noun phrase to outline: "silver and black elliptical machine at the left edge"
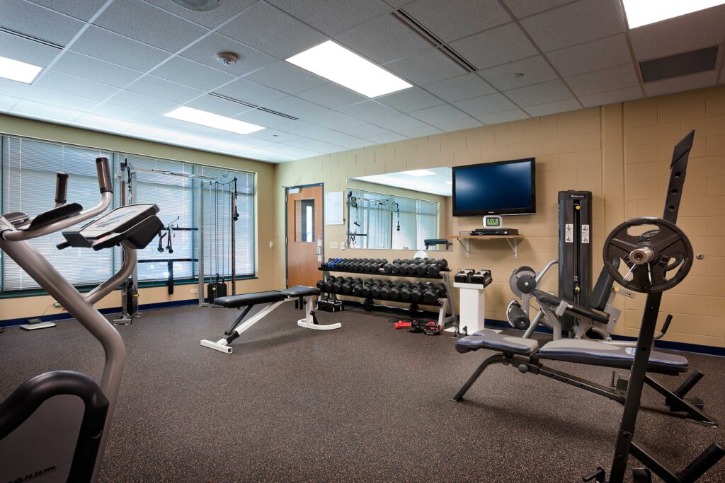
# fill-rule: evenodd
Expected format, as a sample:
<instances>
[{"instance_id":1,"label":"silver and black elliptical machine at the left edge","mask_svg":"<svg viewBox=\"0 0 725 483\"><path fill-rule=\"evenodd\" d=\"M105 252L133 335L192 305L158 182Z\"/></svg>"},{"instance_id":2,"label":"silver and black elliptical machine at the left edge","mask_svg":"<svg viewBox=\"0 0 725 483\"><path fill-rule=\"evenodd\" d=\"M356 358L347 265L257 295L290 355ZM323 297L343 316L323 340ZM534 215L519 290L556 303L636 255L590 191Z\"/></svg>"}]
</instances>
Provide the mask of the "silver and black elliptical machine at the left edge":
<instances>
[{"instance_id":1,"label":"silver and black elliptical machine at the left edge","mask_svg":"<svg viewBox=\"0 0 725 483\"><path fill-rule=\"evenodd\" d=\"M94 308L121 285L136 266L136 250L145 248L162 228L155 204L122 206L73 230L68 228L103 213L113 189L107 158L96 159L101 201L83 210L66 204L66 173L59 172L56 206L36 217L20 211L0 217L0 249L57 300L96 340L106 355L100 385L86 374L49 371L17 387L0 404L0 482L95 482L123 377L125 346L117 330ZM62 232L59 249L120 245L120 271L81 294L28 240Z\"/></svg>"}]
</instances>

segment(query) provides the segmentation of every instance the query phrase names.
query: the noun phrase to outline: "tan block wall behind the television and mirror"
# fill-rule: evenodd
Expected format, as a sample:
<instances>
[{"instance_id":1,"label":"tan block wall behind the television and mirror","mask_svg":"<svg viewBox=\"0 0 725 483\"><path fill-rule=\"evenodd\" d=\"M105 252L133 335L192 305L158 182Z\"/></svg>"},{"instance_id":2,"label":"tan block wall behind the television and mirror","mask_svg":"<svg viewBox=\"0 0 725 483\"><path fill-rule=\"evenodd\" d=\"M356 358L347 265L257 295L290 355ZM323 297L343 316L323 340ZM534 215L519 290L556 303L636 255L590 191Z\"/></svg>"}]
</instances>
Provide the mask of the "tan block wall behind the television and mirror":
<instances>
[{"instance_id":1,"label":"tan block wall behind the television and mirror","mask_svg":"<svg viewBox=\"0 0 725 483\"><path fill-rule=\"evenodd\" d=\"M510 300L510 272L518 266L541 267L558 257L557 192L591 190L594 197L592 243L594 270L609 230L625 217L662 214L668 159L677 140L697 129L680 223L691 237L696 260L687 280L663 298L663 311L674 314L667 340L725 347L725 87L583 109L500 125L431 135L352 151L302 159L277 168L275 241L284 243L284 190L324 182L327 191L346 188L348 177L385 172L458 166L529 156L537 158L537 214L505 217L525 237L518 259L504 240L471 243L466 258L460 245L447 253L453 269L491 269L494 283L486 290L486 317L503 319ZM450 206L447 207L450 213ZM449 234L480 227L479 217L452 218ZM345 240L344 226L326 227L326 257L410 257L413 251L333 250ZM277 251L275 286L285 285L284 253ZM555 273L545 290L557 290ZM645 297L618 304L626 308L617 332L636 335ZM626 306L625 306L626 304ZM660 317L664 319L664 314Z\"/></svg>"}]
</instances>

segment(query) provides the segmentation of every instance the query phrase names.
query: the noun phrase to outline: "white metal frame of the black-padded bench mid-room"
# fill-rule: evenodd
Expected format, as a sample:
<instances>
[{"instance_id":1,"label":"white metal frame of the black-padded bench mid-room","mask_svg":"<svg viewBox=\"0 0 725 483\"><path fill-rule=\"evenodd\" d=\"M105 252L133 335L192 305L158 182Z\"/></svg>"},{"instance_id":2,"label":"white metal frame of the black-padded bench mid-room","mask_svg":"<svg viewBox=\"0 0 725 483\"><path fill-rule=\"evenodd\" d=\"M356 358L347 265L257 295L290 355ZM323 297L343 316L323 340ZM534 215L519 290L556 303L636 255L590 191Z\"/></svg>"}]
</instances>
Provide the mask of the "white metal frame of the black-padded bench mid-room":
<instances>
[{"instance_id":1,"label":"white metal frame of the black-padded bench mid-room","mask_svg":"<svg viewBox=\"0 0 725 483\"><path fill-rule=\"evenodd\" d=\"M204 347L218 350L219 352L231 354L232 348L229 344L231 344L233 340L236 340L242 334L242 332L249 329L249 327L252 327L252 325L256 324L257 322L260 322L260 320L264 319L265 316L268 316L268 314L270 314L270 312L272 312L275 308L289 301L295 301L295 306L298 306L299 308L305 310L305 318L299 319L297 321L297 325L299 325L299 327L305 327L305 329L315 330L333 330L342 327L342 324L340 324L339 322L336 324L328 325L320 325L318 323L317 317L315 316L315 311L312 310L312 307L314 306L314 301L312 300L312 297L314 296L315 295L304 295L302 297L288 296L287 298L283 298L280 301L270 302L267 304L267 306L262 308L262 310L249 317L249 319L247 320L244 320L244 318L247 316L247 314L249 314L249 311L252 310L252 307L257 304L253 303L245 307L239 307L240 309L244 308L244 310L239 315L239 317L234 320L234 322L231 324L231 327L229 327L229 329L224 332L224 337L216 342L212 340L202 340L201 344Z\"/></svg>"}]
</instances>

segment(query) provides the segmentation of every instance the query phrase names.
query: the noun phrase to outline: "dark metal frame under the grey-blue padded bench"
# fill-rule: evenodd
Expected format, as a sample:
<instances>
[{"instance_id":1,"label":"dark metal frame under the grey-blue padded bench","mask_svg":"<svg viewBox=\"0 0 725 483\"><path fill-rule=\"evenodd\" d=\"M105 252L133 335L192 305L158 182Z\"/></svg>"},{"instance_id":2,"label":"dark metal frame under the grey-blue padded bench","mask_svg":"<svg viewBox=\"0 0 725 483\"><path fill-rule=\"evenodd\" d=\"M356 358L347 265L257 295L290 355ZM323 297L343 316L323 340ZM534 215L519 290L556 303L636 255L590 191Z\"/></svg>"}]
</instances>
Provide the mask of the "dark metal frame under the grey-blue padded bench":
<instances>
[{"instance_id":1,"label":"dark metal frame under the grey-blue padded bench","mask_svg":"<svg viewBox=\"0 0 725 483\"><path fill-rule=\"evenodd\" d=\"M450 398L450 400L456 403L460 402L465 393L468 392L468 389L470 389L473 383L476 382L476 379L479 379L483 371L485 371L491 364L512 366L518 369L518 371L522 374L526 374L527 372L531 372L531 374L540 374L542 376L549 377L550 379L555 379L557 381L564 382L565 384L579 387L579 389L604 396L605 398L616 401L623 406L624 403L626 403L626 379L619 379L616 385L613 385L613 387L607 387L600 385L597 382L589 381L589 379L584 379L582 377L574 376L573 374L568 374L566 372L544 366L544 364L540 362L537 353L533 353L531 356L522 356L510 352L493 354L492 356L484 359L476 370L473 371L471 377L468 377L468 380L463 384L460 390L456 392L455 396ZM663 374L667 373L663 372ZM671 375L674 374L675 373L672 373ZM718 421L713 419L711 416L708 416L708 414L702 410L702 407L704 406L702 400L698 398L691 398L689 400L685 399L687 392L692 389L692 387L694 387L695 384L697 384L697 381L699 381L702 377L703 374L700 371L694 371L682 383L682 385L674 391L668 390L659 382L655 381L655 379L650 377L649 374L645 375L645 383L652 387L655 391L659 392L660 395L663 395L665 398L665 404L669 408L668 413L673 415L684 413L686 415L685 418L689 421L715 428L718 426Z\"/></svg>"}]
</instances>

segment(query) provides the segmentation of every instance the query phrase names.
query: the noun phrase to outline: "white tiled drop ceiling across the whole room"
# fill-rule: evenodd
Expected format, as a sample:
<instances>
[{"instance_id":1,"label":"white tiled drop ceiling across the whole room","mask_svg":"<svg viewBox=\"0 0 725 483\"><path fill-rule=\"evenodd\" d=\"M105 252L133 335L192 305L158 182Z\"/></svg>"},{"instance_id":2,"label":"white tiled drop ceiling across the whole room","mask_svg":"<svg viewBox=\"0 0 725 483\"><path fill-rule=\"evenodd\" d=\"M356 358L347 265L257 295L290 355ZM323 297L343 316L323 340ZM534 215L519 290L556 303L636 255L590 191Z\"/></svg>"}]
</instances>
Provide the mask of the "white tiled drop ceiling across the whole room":
<instances>
[{"instance_id":1,"label":"white tiled drop ceiling across the whole room","mask_svg":"<svg viewBox=\"0 0 725 483\"><path fill-rule=\"evenodd\" d=\"M211 12L170 0L0 0L0 9L0 55L46 67L33 85L0 79L0 112L272 162L725 81L725 7L631 31L618 0L221 0ZM414 87L370 99L284 62L330 38ZM716 70L642 83L637 62L713 45ZM239 62L218 63L221 51ZM163 116L182 105L267 129L237 135Z\"/></svg>"}]
</instances>

